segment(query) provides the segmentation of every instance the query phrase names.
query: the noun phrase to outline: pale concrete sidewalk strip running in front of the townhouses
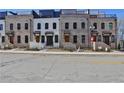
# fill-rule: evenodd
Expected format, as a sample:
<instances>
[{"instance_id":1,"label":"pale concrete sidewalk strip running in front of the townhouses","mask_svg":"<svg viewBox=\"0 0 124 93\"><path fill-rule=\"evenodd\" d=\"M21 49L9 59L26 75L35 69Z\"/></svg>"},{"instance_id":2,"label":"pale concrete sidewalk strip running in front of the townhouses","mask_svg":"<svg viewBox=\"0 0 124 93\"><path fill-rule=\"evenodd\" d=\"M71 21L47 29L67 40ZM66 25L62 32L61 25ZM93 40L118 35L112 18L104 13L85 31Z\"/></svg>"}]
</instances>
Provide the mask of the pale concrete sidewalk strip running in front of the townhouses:
<instances>
[{"instance_id":1,"label":"pale concrete sidewalk strip running in front of the townhouses","mask_svg":"<svg viewBox=\"0 0 124 93\"><path fill-rule=\"evenodd\" d=\"M14 53L14 54L47 54L47 55L122 55L124 52L113 51L113 52L51 52L46 50L41 51L23 51L23 50L0 50L0 53Z\"/></svg>"}]
</instances>

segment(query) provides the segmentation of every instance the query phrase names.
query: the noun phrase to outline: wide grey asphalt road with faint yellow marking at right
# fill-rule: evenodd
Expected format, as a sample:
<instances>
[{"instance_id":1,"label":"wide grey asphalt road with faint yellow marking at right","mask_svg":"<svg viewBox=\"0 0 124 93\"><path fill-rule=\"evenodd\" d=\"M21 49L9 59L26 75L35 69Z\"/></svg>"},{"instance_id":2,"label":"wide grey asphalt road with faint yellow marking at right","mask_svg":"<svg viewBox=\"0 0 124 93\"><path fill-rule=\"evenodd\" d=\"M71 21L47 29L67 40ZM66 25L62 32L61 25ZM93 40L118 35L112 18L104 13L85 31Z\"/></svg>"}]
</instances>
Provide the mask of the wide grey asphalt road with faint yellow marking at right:
<instances>
[{"instance_id":1,"label":"wide grey asphalt road with faint yellow marking at right","mask_svg":"<svg viewBox=\"0 0 124 93\"><path fill-rule=\"evenodd\" d=\"M0 82L124 82L124 56L0 53Z\"/></svg>"}]
</instances>

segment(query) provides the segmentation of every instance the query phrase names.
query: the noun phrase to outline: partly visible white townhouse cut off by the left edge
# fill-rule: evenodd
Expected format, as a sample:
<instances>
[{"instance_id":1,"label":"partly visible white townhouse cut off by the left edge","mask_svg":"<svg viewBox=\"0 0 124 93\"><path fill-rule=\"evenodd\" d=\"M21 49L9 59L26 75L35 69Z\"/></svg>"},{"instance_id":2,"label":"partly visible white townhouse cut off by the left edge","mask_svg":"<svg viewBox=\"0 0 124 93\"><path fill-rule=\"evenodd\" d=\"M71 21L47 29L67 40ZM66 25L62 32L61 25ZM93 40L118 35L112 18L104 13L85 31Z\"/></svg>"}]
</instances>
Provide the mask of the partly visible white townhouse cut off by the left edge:
<instances>
[{"instance_id":1,"label":"partly visible white townhouse cut off by the left edge","mask_svg":"<svg viewBox=\"0 0 124 93\"><path fill-rule=\"evenodd\" d=\"M4 48L5 43L5 20L0 19L0 48Z\"/></svg>"}]
</instances>

